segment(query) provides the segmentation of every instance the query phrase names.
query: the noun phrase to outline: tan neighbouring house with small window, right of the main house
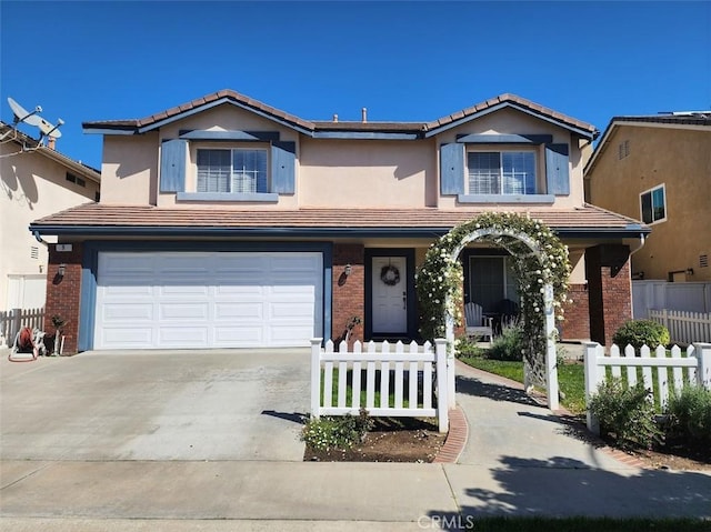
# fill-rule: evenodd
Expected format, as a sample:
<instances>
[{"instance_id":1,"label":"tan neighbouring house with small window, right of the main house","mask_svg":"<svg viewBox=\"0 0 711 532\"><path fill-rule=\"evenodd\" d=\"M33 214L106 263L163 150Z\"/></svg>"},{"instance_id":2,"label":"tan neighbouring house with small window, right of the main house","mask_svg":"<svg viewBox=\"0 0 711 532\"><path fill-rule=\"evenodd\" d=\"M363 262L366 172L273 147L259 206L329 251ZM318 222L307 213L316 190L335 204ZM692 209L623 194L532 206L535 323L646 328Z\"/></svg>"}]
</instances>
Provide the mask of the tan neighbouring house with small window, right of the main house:
<instances>
[{"instance_id":1,"label":"tan neighbouring house with small window, right of the main house","mask_svg":"<svg viewBox=\"0 0 711 532\"><path fill-rule=\"evenodd\" d=\"M614 117L584 179L590 203L652 228L633 279L711 281L711 111Z\"/></svg>"}]
</instances>

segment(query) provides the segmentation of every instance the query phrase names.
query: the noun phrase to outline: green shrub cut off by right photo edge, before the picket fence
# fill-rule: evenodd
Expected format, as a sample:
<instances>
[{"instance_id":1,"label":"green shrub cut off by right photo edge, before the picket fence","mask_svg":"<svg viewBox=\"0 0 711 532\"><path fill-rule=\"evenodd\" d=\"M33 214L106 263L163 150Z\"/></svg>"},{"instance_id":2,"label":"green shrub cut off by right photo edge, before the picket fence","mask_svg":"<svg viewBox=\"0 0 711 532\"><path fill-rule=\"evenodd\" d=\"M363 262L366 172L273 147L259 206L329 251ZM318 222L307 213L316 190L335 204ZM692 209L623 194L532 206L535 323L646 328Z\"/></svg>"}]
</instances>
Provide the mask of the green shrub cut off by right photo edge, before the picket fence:
<instances>
[{"instance_id":1,"label":"green shrub cut off by right photo edge, before the picket fence","mask_svg":"<svg viewBox=\"0 0 711 532\"><path fill-rule=\"evenodd\" d=\"M711 444L711 390L684 387L669 399L667 435L694 444Z\"/></svg>"}]
</instances>

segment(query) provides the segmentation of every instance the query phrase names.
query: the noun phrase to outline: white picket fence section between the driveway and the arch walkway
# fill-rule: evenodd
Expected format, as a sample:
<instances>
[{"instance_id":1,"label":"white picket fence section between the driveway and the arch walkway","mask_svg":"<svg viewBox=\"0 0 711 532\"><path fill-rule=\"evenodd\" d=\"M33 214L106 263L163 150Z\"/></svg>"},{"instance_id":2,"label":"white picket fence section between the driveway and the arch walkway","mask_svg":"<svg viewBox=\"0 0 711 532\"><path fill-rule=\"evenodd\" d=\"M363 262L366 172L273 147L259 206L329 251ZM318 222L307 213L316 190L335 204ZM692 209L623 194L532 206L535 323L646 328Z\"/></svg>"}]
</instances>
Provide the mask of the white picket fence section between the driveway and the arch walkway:
<instances>
[{"instance_id":1,"label":"white picket fence section between the driveway and the arch walkway","mask_svg":"<svg viewBox=\"0 0 711 532\"><path fill-rule=\"evenodd\" d=\"M360 342L354 342L352 352L348 351L346 342L339 344L338 352L334 352L333 342L330 340L326 342L326 348L321 348L321 340L320 338L311 340L311 415L313 418L347 413L358 415L360 409L364 408L370 415L435 416L439 431L448 431L447 340L435 340L434 349L430 342L419 345L413 341L409 345L402 342L394 345L388 342L381 344L369 342L363 350ZM334 372L337 372L336 375ZM336 404L332 400L334 384L338 385ZM348 401L349 384L352 391L350 401ZM375 404L378 389L380 401ZM361 404L363 390L365 401ZM392 404L391 394L393 395Z\"/></svg>"}]
</instances>

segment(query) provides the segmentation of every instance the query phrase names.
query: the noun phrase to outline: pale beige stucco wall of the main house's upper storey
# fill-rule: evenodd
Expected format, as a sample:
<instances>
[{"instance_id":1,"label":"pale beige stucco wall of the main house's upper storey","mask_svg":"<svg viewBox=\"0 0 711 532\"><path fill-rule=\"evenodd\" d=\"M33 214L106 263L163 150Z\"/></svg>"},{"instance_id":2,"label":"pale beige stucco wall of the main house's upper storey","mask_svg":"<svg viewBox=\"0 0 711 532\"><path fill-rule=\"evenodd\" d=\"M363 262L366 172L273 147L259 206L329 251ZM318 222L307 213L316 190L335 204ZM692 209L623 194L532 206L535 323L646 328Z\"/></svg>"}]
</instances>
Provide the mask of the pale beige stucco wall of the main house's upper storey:
<instances>
[{"instance_id":1,"label":"pale beige stucco wall of the main house's upper storey","mask_svg":"<svg viewBox=\"0 0 711 532\"><path fill-rule=\"evenodd\" d=\"M299 134L291 128L230 104L221 104L171 122L162 127L159 132L106 137L102 202L204 208L203 201L177 201L174 193L157 191L161 141L177 138L180 130L278 131L281 140L296 142L294 194L280 194L279 201L274 203L219 202L223 208L261 210L299 207L452 209L487 207L500 210L503 205L510 210L530 209L525 204L503 202L498 205L460 205L453 195L439 195L439 147L442 143L453 142L458 134L468 133L551 134L554 142L569 143L571 193L567 197L557 197L554 207L570 208L583 202L580 149L582 143L568 130L517 110L503 109L492 112L431 139L336 140L312 139ZM197 143L191 143L187 154L187 191L194 188L197 180L196 145ZM200 145L216 144L206 142ZM267 148L268 143L264 143L264 147ZM494 148L500 149L501 145L492 149ZM535 151L539 174L544 181L544 149L539 147Z\"/></svg>"}]
</instances>

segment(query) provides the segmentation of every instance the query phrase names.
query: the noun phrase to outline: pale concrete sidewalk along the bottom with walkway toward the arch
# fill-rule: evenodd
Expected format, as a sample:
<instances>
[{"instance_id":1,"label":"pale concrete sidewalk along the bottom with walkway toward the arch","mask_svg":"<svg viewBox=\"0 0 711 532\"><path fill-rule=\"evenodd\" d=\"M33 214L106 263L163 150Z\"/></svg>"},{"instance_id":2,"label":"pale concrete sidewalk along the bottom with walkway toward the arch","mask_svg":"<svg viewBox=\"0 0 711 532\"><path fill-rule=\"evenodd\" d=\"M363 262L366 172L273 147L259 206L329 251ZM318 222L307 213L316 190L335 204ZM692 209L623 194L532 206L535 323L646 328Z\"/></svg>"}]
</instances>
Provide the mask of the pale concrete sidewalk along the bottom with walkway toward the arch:
<instances>
[{"instance_id":1,"label":"pale concrete sidewalk along the bottom with walkway toward the arch","mask_svg":"<svg viewBox=\"0 0 711 532\"><path fill-rule=\"evenodd\" d=\"M625 465L508 382L458 368L453 464L3 460L17 531L475 530L484 515L711 519L711 475ZM441 525L441 526L439 526Z\"/></svg>"}]
</instances>

